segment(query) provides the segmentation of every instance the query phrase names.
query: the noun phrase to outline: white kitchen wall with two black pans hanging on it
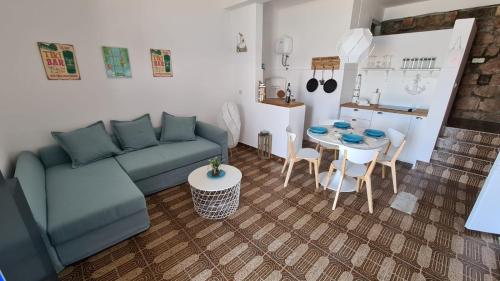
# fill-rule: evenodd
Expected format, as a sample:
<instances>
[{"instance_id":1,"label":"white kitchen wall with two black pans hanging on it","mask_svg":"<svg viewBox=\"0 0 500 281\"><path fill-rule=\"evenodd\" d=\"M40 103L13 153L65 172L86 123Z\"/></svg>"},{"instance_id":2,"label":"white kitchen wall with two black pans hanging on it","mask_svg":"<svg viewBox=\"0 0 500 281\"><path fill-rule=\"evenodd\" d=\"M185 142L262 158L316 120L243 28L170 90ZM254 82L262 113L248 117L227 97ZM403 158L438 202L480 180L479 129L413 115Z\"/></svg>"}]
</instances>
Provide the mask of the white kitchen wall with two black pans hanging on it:
<instances>
[{"instance_id":1,"label":"white kitchen wall with two black pans hanging on it","mask_svg":"<svg viewBox=\"0 0 500 281\"><path fill-rule=\"evenodd\" d=\"M306 104L306 127L338 115L343 72L335 72L339 85L332 94L326 94L322 87L308 93L306 83L313 75L313 57L337 55L338 40L351 25L352 9L352 0L273 0L264 4L264 77L288 79L295 98ZM293 38L294 44L289 71L281 66L281 56L274 52L277 40L285 34ZM321 72L316 74L316 78L320 77ZM325 71L325 80L330 77L331 71Z\"/></svg>"}]
</instances>

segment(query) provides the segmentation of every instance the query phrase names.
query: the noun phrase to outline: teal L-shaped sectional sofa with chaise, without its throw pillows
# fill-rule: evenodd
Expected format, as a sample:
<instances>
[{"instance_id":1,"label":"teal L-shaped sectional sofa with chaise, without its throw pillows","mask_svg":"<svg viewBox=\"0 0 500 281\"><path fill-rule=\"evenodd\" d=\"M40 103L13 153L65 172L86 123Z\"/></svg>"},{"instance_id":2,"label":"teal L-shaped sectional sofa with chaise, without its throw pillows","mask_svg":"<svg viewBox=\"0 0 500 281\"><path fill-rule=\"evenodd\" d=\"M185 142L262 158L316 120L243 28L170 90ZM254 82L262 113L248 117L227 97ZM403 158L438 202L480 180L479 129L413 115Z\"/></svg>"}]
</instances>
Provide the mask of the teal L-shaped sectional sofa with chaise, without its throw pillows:
<instances>
[{"instance_id":1,"label":"teal L-shaped sectional sofa with chaise, without its throw pillows","mask_svg":"<svg viewBox=\"0 0 500 281\"><path fill-rule=\"evenodd\" d=\"M157 135L159 130L156 130ZM127 152L79 168L58 145L22 152L15 177L57 271L149 227L144 196L187 181L220 157L227 133L196 122L196 139Z\"/></svg>"}]
</instances>

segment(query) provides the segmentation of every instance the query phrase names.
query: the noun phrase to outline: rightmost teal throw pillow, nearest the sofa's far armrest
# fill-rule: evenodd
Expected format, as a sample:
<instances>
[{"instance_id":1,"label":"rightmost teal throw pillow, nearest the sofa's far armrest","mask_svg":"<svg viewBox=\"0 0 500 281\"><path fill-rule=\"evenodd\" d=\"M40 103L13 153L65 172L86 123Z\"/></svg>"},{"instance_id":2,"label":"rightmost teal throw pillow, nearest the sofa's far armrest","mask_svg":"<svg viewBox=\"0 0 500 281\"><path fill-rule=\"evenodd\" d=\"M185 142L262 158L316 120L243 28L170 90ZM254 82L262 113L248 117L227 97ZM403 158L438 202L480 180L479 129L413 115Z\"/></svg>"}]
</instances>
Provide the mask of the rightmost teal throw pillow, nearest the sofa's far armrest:
<instances>
[{"instance_id":1,"label":"rightmost teal throw pillow, nearest the sofa's far armrest","mask_svg":"<svg viewBox=\"0 0 500 281\"><path fill-rule=\"evenodd\" d=\"M196 139L196 116L177 117L163 112L160 142L192 141Z\"/></svg>"}]
</instances>

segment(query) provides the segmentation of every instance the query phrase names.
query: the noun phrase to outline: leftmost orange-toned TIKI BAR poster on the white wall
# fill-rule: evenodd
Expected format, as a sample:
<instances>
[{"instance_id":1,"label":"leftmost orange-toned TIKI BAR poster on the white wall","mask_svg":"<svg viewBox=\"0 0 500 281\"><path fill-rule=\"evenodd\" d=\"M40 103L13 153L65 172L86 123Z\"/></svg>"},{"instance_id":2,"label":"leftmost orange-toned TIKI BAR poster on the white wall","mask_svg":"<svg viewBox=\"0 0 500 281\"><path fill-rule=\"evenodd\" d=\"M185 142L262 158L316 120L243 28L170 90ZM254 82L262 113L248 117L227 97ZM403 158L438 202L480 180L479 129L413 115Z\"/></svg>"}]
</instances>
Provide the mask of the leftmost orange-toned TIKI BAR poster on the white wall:
<instances>
[{"instance_id":1,"label":"leftmost orange-toned TIKI BAR poster on the white wall","mask_svg":"<svg viewBox=\"0 0 500 281\"><path fill-rule=\"evenodd\" d=\"M69 44L38 42L45 74L49 80L80 80L75 48Z\"/></svg>"}]
</instances>

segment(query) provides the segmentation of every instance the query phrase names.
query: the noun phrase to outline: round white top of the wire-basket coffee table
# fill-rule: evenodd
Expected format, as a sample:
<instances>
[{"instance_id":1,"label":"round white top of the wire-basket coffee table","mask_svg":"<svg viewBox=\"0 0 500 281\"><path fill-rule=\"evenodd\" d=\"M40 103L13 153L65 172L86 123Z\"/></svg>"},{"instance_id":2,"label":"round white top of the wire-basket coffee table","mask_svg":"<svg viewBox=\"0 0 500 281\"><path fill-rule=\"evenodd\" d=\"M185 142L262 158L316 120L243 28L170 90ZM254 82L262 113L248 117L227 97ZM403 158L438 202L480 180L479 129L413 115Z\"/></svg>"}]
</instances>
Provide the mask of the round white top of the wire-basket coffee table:
<instances>
[{"instance_id":1,"label":"round white top of the wire-basket coffee table","mask_svg":"<svg viewBox=\"0 0 500 281\"><path fill-rule=\"evenodd\" d=\"M211 170L210 166L200 167L189 174L189 184L203 191L221 191L229 189L241 181L241 171L230 165L221 165L220 169L226 174L220 178L210 178L207 173Z\"/></svg>"}]
</instances>

